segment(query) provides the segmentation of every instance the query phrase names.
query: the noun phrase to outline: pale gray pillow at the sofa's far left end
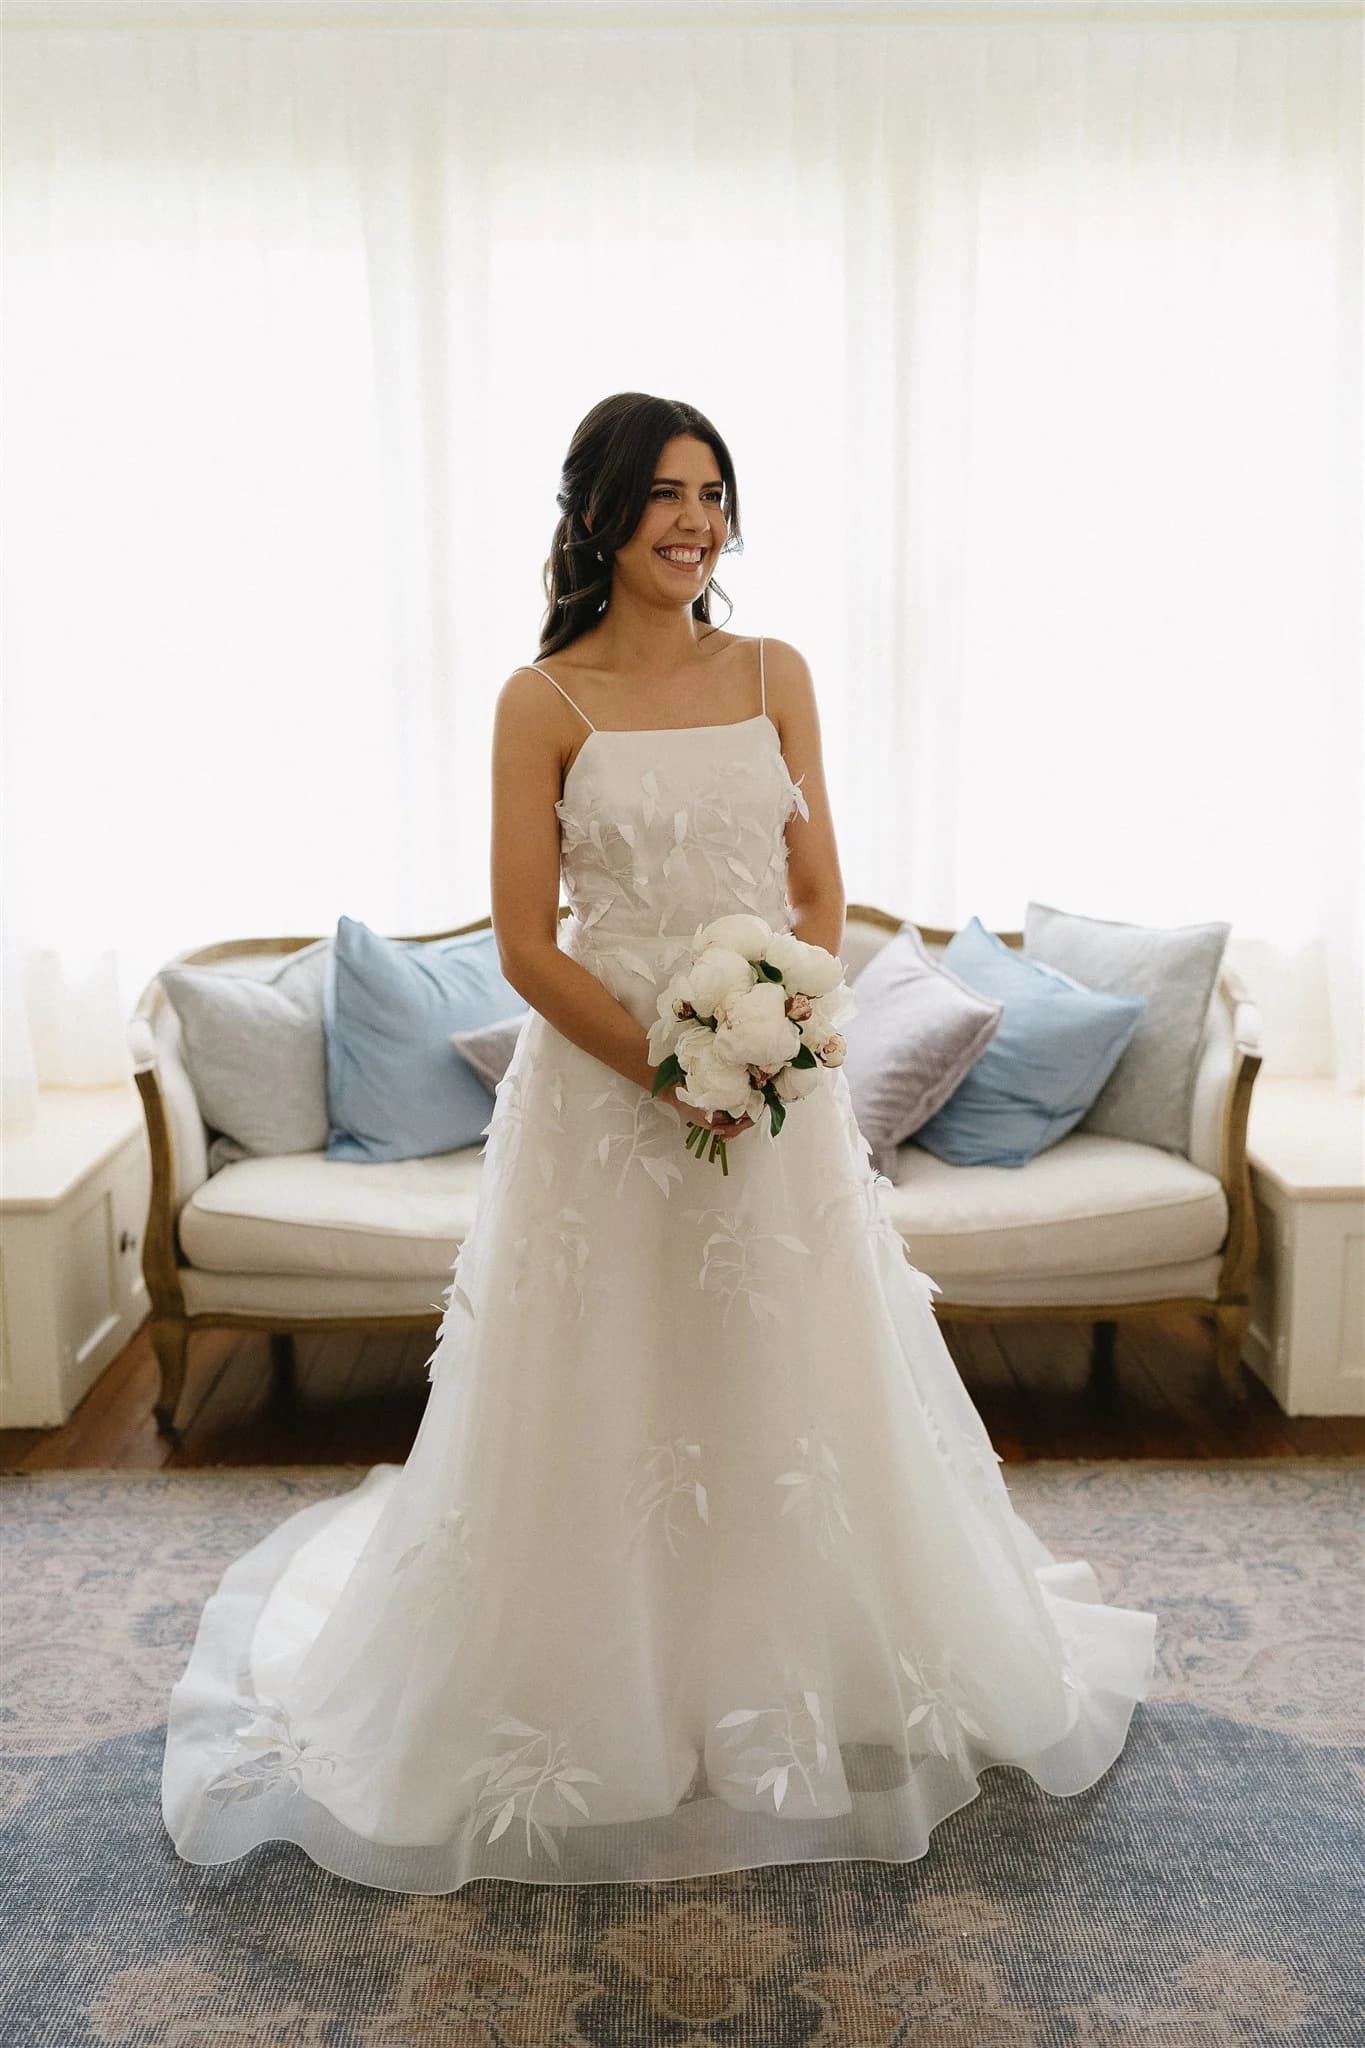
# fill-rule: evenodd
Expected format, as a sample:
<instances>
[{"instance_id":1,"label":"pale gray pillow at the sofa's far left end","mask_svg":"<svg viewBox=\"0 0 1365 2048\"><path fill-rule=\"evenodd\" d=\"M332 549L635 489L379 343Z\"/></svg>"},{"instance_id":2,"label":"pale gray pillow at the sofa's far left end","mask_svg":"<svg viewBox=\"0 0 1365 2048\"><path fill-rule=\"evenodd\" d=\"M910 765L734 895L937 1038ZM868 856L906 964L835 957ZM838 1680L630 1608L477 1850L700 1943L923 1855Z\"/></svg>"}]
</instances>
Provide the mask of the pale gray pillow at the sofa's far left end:
<instances>
[{"instance_id":1,"label":"pale gray pillow at the sofa's far left end","mask_svg":"<svg viewBox=\"0 0 1365 2048\"><path fill-rule=\"evenodd\" d=\"M201 1114L219 1133L209 1147L211 1171L233 1159L325 1151L329 952L332 940L319 938L266 973L162 969Z\"/></svg>"}]
</instances>

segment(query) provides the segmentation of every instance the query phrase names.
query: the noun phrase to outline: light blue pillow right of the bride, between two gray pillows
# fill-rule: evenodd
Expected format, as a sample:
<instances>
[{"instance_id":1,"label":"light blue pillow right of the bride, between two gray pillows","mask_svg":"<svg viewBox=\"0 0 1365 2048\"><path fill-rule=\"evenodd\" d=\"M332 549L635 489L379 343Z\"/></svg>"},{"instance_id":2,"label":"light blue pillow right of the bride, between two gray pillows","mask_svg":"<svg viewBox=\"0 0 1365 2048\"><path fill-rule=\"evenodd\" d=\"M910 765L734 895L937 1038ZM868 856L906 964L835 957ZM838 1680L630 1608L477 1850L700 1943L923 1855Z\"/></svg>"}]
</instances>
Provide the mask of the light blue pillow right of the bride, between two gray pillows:
<instances>
[{"instance_id":1,"label":"light blue pillow right of the bride, between two gray pillows","mask_svg":"<svg viewBox=\"0 0 1365 2048\"><path fill-rule=\"evenodd\" d=\"M1105 995L1025 958L972 918L943 967L1005 1004L995 1038L941 1110L919 1126L952 1165L1027 1165L1081 1122L1138 1030L1144 995Z\"/></svg>"}]
</instances>

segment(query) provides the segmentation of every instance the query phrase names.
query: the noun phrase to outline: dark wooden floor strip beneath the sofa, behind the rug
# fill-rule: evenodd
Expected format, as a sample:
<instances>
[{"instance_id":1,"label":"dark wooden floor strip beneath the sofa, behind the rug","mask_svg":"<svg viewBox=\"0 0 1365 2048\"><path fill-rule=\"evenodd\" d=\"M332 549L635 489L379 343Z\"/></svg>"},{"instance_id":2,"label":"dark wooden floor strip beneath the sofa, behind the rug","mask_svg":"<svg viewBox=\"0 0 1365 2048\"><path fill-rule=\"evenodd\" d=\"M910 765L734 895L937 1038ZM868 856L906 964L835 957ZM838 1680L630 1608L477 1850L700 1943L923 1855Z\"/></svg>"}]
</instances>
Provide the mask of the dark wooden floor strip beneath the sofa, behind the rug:
<instances>
[{"instance_id":1,"label":"dark wooden floor strip beneath the sofa, behind the rug","mask_svg":"<svg viewBox=\"0 0 1365 2048\"><path fill-rule=\"evenodd\" d=\"M1111 1382L1089 1372L1089 1325L945 1323L943 1335L1007 1464L1027 1458L1365 1458L1365 1417L1283 1415L1242 1368L1232 1403L1197 1317L1119 1323ZM180 1440L151 1417L147 1329L100 1374L61 1430L0 1432L0 1470L156 1470L192 1464L401 1464L428 1395L432 1333L295 1339L293 1384L264 1335L190 1339Z\"/></svg>"}]
</instances>

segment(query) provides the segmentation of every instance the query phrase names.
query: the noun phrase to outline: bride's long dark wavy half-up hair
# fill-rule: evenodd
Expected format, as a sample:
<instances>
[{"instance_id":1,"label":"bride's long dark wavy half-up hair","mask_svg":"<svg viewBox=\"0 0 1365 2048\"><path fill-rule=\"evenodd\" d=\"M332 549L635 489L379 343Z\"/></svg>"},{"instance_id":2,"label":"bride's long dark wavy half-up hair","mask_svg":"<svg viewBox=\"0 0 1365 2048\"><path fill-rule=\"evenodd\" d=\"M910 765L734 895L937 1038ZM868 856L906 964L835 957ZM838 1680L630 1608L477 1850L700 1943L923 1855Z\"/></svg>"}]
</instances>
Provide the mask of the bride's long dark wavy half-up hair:
<instances>
[{"instance_id":1,"label":"bride's long dark wavy half-up hair","mask_svg":"<svg viewBox=\"0 0 1365 2048\"><path fill-rule=\"evenodd\" d=\"M567 647L608 608L616 549L641 524L659 453L673 434L694 434L716 457L724 483L722 510L729 520L729 539L720 553L743 553L735 463L706 414L681 399L651 397L649 391L616 391L604 397L575 428L555 492L561 518L544 563L542 655ZM712 578L692 600L692 616L706 625L712 625L710 594L716 588ZM720 596L731 604L724 590Z\"/></svg>"}]
</instances>

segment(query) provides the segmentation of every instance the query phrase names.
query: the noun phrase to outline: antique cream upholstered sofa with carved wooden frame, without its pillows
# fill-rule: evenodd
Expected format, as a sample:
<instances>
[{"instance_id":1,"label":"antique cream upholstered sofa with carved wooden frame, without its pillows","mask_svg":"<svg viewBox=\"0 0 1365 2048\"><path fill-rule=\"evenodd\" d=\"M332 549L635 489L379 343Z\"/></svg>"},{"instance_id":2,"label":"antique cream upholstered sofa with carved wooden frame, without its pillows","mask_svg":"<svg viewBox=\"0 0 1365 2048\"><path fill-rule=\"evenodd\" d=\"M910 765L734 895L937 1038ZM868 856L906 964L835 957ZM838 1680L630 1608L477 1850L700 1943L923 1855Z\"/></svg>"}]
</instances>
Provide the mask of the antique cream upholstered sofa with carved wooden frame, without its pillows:
<instances>
[{"instance_id":1,"label":"antique cream upholstered sofa with carved wooden frame, without its pillows","mask_svg":"<svg viewBox=\"0 0 1365 2048\"><path fill-rule=\"evenodd\" d=\"M872 905L847 907L839 950L853 983L900 924ZM937 954L954 934L921 926L921 936ZM1023 944L1019 932L999 936ZM239 938L168 965L266 973L309 944ZM295 1331L434 1331L473 1214L481 1145L381 1163L248 1157L211 1174L211 1130L158 977L129 1028L151 1151L143 1274L164 1432L174 1434L194 1331L268 1331L280 1374L293 1366ZM1259 1065L1257 1006L1224 965L1185 1155L1081 1128L1023 1167L960 1167L913 1141L900 1145L890 1210L907 1257L939 1282L939 1321L1083 1321L1093 1325L1091 1362L1103 1374L1119 1319L1197 1313L1214 1327L1230 1397L1244 1399L1240 1354L1257 1262L1246 1120Z\"/></svg>"}]
</instances>

